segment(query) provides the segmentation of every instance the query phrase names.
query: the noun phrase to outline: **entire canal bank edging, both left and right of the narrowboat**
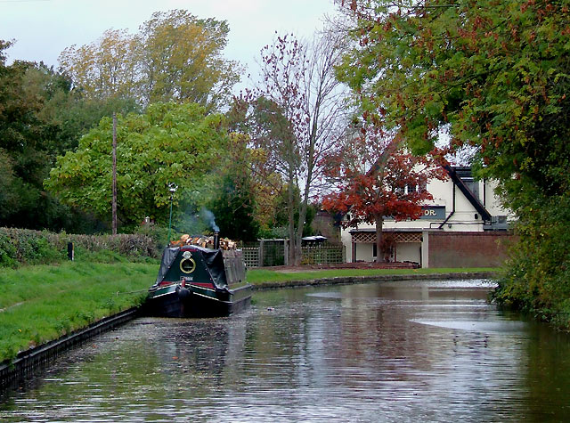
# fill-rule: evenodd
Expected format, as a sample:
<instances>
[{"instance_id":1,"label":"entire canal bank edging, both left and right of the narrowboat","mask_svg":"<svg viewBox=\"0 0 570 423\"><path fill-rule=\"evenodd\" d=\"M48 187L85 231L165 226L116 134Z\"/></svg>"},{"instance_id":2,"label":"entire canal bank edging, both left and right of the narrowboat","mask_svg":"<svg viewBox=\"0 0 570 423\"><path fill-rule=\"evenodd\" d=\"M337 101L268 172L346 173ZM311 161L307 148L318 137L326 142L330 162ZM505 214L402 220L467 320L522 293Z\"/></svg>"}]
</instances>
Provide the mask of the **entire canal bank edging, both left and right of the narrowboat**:
<instances>
[{"instance_id":1,"label":"entire canal bank edging, both left and right of the narrowboat","mask_svg":"<svg viewBox=\"0 0 570 423\"><path fill-rule=\"evenodd\" d=\"M314 280L300 281L273 281L257 283L253 286L253 290L263 289L279 289L279 288L296 288L308 286L326 286L326 285L347 285L365 282L378 281L421 281L421 280L461 280L461 279L489 279L493 278L493 272L457 272L457 273L420 273L420 274L386 274L386 275L369 275L369 276L338 276L334 278L322 278ZM93 338L110 329L114 329L119 325L131 321L140 315L140 307L134 307L124 312L106 317L101 321L95 321L85 329L77 330L69 335L55 339L42 346L22 351L11 362L0 363L0 388L11 386L32 377L34 371L45 368L49 362L56 357L65 353L73 346L77 346L85 342L89 338Z\"/></svg>"}]
</instances>

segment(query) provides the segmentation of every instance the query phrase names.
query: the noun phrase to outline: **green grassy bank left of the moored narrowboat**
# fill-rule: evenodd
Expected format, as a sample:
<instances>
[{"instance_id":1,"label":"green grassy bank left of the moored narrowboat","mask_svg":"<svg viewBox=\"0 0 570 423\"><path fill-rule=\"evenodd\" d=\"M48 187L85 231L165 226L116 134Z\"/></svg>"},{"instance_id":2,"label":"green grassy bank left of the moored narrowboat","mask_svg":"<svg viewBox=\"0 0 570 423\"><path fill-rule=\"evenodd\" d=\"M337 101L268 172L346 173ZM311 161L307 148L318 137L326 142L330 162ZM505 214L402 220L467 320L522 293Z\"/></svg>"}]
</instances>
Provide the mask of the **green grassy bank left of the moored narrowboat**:
<instances>
[{"instance_id":1,"label":"green grassy bank left of the moored narrowboat","mask_svg":"<svg viewBox=\"0 0 570 423\"><path fill-rule=\"evenodd\" d=\"M158 264L25 266L0 273L0 362L141 304Z\"/></svg>"}]
</instances>

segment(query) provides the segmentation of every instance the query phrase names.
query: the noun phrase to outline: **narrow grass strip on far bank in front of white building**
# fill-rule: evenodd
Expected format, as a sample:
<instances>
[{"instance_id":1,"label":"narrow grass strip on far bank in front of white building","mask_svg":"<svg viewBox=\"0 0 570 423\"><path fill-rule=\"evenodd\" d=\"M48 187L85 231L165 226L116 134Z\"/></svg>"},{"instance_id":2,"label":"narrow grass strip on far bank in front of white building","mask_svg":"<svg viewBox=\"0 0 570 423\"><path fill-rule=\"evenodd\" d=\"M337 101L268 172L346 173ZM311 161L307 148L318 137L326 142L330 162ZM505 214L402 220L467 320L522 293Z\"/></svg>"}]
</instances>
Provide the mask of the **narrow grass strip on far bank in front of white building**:
<instances>
[{"instance_id":1,"label":"narrow grass strip on far bank in front of white building","mask_svg":"<svg viewBox=\"0 0 570 423\"><path fill-rule=\"evenodd\" d=\"M306 272L276 272L267 269L248 270L247 281L253 285L263 282L281 281L311 281L314 279L334 278L343 276L375 276L375 275L401 275L401 274L436 274L436 273L476 273L497 272L493 267L469 268L436 268L436 269L327 269Z\"/></svg>"}]
</instances>

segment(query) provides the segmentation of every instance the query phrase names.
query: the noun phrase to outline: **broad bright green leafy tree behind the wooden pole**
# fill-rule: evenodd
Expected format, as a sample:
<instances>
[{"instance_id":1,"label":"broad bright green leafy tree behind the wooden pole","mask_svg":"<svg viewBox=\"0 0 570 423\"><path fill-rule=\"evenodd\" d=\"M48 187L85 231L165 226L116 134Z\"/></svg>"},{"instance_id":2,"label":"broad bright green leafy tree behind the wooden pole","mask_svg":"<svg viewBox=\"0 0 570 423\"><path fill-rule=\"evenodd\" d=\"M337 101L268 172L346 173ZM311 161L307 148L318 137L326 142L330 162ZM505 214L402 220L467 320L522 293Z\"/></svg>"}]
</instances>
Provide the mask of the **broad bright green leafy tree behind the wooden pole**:
<instances>
[{"instance_id":1,"label":"broad bright green leafy tree behind the wooden pole","mask_svg":"<svg viewBox=\"0 0 570 423\"><path fill-rule=\"evenodd\" d=\"M45 187L66 204L93 210L108 220L111 195L112 121L103 118L76 151L57 159ZM118 116L118 218L127 226L145 216L168 220L170 192L175 205L192 202L216 167L225 143L224 118L203 107L156 103L142 115Z\"/></svg>"}]
</instances>

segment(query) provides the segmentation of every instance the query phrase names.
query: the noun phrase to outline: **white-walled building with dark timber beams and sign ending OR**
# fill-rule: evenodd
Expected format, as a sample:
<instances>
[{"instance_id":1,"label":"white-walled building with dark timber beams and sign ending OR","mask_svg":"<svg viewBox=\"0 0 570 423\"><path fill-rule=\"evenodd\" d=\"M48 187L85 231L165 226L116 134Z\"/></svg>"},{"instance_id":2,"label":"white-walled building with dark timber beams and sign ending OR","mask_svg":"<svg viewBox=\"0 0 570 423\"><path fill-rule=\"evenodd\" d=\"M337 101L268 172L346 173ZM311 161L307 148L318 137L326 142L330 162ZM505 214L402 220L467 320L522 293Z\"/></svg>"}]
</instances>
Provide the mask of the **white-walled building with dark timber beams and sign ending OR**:
<instances>
[{"instance_id":1,"label":"white-walled building with dark timber beams and sign ending OR","mask_svg":"<svg viewBox=\"0 0 570 423\"><path fill-rule=\"evenodd\" d=\"M474 232L493 232L499 235L499 232L507 232L509 211L501 207L495 195L496 183L492 180L477 181L471 174L470 167L445 167L445 170L449 175L446 180L434 179L428 183L427 190L433 199L422 206L423 216L401 222L386 217L383 234L390 248L383 261L412 262L429 267L430 255L432 262L436 261L433 259L433 248L429 248L430 234L435 236L441 232L453 232L454 240L459 240L460 234L464 234L463 239L467 240L465 235L474 235ZM468 239L483 240L482 237L473 236ZM345 228L341 231L341 240L346 249L347 263L371 262L378 254L374 224ZM489 237L485 242L491 242ZM462 248L450 248L451 253L446 253L448 255L453 255L453 250L463 251ZM485 252L474 251L473 255L480 253ZM466 257L469 253L465 251L458 254L461 255L458 259L466 264L479 264L481 260L485 262L485 258L469 261L470 257ZM453 262L453 257L448 257L447 261Z\"/></svg>"}]
</instances>

